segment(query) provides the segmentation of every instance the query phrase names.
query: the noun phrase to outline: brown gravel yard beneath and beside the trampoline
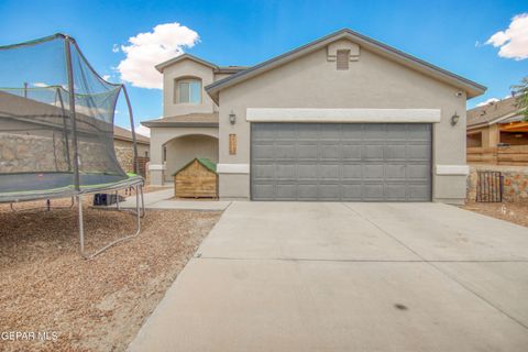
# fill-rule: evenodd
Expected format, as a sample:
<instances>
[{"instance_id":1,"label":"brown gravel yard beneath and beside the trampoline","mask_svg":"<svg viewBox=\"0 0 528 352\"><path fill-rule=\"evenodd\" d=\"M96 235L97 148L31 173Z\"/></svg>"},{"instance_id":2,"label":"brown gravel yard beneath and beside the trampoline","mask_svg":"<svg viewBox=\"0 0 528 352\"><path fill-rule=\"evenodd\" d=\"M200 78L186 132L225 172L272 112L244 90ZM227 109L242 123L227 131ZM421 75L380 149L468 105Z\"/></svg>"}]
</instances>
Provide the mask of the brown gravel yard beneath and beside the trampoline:
<instances>
[{"instance_id":1,"label":"brown gravel yard beneath and beside the trampoline","mask_svg":"<svg viewBox=\"0 0 528 352\"><path fill-rule=\"evenodd\" d=\"M87 207L84 213L88 250L134 230L129 213ZM219 217L148 211L140 237L85 261L75 209L13 213L0 205L0 332L45 332L52 340L0 340L0 350L123 351Z\"/></svg>"}]
</instances>

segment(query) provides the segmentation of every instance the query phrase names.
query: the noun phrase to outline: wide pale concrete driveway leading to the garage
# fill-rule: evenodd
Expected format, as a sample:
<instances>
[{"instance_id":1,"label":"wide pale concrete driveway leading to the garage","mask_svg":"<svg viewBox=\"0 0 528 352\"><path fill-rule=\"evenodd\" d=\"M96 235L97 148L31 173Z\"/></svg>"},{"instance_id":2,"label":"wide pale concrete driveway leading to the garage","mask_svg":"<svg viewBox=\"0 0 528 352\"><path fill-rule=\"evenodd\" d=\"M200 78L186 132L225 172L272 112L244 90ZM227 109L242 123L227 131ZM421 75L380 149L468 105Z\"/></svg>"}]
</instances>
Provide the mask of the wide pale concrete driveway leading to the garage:
<instances>
[{"instance_id":1,"label":"wide pale concrete driveway leading to the garage","mask_svg":"<svg viewBox=\"0 0 528 352\"><path fill-rule=\"evenodd\" d=\"M233 202L131 351L527 351L528 229L441 204Z\"/></svg>"}]
</instances>

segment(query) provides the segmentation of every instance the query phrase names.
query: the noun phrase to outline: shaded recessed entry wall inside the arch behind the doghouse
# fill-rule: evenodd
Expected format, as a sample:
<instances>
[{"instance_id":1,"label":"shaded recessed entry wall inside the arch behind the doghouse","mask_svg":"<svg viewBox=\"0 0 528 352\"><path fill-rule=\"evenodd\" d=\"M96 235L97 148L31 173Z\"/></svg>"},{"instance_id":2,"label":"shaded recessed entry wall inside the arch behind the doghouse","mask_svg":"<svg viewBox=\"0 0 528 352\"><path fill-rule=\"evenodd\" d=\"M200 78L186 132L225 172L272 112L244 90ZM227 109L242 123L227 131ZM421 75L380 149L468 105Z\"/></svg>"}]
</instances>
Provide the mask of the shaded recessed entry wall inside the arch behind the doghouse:
<instances>
[{"instance_id":1,"label":"shaded recessed entry wall inside the arch behind the doghouse","mask_svg":"<svg viewBox=\"0 0 528 352\"><path fill-rule=\"evenodd\" d=\"M207 157L218 163L218 139L207 135L186 135L170 140L165 144L167 160L165 164L165 182L173 179L173 174L195 157Z\"/></svg>"}]
</instances>

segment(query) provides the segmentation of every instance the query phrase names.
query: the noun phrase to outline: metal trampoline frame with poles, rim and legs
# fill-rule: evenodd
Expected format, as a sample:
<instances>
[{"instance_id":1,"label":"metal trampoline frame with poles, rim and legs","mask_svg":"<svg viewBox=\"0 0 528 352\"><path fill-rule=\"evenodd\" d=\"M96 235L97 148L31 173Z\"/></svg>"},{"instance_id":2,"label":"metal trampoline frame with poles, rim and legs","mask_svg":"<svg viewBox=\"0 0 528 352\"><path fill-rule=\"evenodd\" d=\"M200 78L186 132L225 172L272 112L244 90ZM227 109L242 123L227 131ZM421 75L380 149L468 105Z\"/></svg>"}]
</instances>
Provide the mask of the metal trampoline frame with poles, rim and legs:
<instances>
[{"instance_id":1,"label":"metal trampoline frame with poles, rim and legs","mask_svg":"<svg viewBox=\"0 0 528 352\"><path fill-rule=\"evenodd\" d=\"M77 201L77 211L78 211L78 217L77 217L77 224L78 224L78 234L79 234L79 251L80 254L82 255L84 258L86 260L91 260L95 256L101 254L109 248L133 239L138 237L141 232L141 218L145 216L145 205L144 205L144 198L143 198L143 186L144 186L144 179L143 177L130 177L128 179L114 182L112 184L106 184L106 185L90 185L88 187L81 187L80 185L80 172L79 172L79 153L78 153L78 142L77 142L77 119L76 119L76 101L75 101L75 86L74 86L74 70L73 70L73 63L72 63L72 45L75 46L77 50L78 54L81 56L84 59L84 64L88 66L88 68L96 75L99 79L103 80L105 82L120 87L122 89L124 99L127 101L127 107L129 109L129 117L130 117L130 127L131 127L131 132L132 132L132 143L133 143L133 172L134 174L138 174L139 169L139 163L138 163L138 141L136 141L136 135L135 135L135 128L134 128L134 118L133 118L133 112L132 112L132 105L130 102L130 98L127 91L127 88L124 85L117 85L117 84L111 84L106 81L103 78L99 76L99 74L94 69L94 67L89 64L89 62L86 59L84 56L82 52L80 51L79 46L77 45L75 38L65 35L65 34L55 34L51 37L62 37L65 41L64 45L64 51L65 51L65 58L66 58L66 70L67 70L67 80L68 80L68 94L69 94L69 120L72 122L72 144L73 144L73 166L74 166L74 185L73 187L64 187L62 189L48 189L46 191L35 191L34 194L28 194L24 191L19 191L19 193L12 193L7 196L6 194L1 195L0 194L0 204L1 202L10 202L10 207L14 212L19 211L24 211L24 210L35 210L35 209L42 209L42 208L31 208L31 209L21 209L21 210L15 210L13 207L13 204L20 202L20 201L34 201L34 200L41 200L41 199L46 199L46 208L48 211L52 209L51 207L51 199L56 199L56 198L66 198L70 197L72 198L72 206L69 208L74 207L74 199ZM42 38L40 41L47 40ZM14 44L14 45L9 45L4 46L4 48L9 47L14 47L18 45L23 45L22 44ZM61 100L61 106L64 111L64 102L62 100L62 96L59 92L59 100ZM116 108L116 107L114 107ZM66 117L66 114L65 114ZM68 151L68 161L69 161L69 151ZM69 163L68 163L69 164ZM116 209L118 211L128 211L136 217L136 229L135 232L132 234L124 235L122 238L119 238L118 240L114 240L105 246L96 250L94 253L88 253L85 249L85 224L84 224L84 210L82 210L82 197L88 194L95 194L95 193L103 193L103 191L118 191L120 189L124 189L128 187L135 188L135 211L133 210L121 210L120 204L119 204L119 197L118 201L116 204ZM1 197L3 196L3 197ZM140 206L140 198L141 198L141 206ZM57 207L57 208L68 208L68 207Z\"/></svg>"}]
</instances>

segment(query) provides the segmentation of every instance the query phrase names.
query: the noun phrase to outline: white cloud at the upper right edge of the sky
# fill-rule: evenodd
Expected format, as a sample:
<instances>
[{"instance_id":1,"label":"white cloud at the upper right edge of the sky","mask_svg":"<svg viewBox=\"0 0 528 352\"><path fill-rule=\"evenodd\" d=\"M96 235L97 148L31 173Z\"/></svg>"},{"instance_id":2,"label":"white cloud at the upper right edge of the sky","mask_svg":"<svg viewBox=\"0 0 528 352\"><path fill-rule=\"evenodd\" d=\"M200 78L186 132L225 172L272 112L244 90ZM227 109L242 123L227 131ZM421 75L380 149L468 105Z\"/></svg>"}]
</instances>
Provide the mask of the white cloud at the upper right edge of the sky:
<instances>
[{"instance_id":1,"label":"white cloud at the upper right edge of the sky","mask_svg":"<svg viewBox=\"0 0 528 352\"><path fill-rule=\"evenodd\" d=\"M528 13L514 16L508 29L493 34L486 44L501 47L501 57L516 61L528 58Z\"/></svg>"}]
</instances>

